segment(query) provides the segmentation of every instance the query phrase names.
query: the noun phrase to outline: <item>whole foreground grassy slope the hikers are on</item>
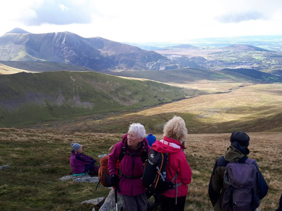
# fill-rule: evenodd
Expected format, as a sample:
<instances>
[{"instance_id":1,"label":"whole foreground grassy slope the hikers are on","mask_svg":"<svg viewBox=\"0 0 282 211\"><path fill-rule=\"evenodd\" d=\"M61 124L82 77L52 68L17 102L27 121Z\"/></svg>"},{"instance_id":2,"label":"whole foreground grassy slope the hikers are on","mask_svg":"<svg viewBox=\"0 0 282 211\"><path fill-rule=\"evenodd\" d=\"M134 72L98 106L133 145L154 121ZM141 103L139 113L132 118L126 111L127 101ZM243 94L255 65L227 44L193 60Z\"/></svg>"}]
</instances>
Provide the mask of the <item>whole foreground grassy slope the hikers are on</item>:
<instances>
[{"instance_id":1,"label":"whole foreground grassy slope the hikers are on","mask_svg":"<svg viewBox=\"0 0 282 211\"><path fill-rule=\"evenodd\" d=\"M91 211L82 201L106 196L109 189L96 184L61 181L70 172L71 143L83 145L84 153L95 158L121 140L118 133L51 132L0 128L1 211ZM282 193L282 133L249 133L250 158L257 160L269 184L260 211L278 207ZM156 135L158 139L161 134ZM212 211L208 184L214 162L229 146L230 134L189 134L187 161L192 169L186 211ZM97 208L96 208L97 209Z\"/></svg>"}]
</instances>

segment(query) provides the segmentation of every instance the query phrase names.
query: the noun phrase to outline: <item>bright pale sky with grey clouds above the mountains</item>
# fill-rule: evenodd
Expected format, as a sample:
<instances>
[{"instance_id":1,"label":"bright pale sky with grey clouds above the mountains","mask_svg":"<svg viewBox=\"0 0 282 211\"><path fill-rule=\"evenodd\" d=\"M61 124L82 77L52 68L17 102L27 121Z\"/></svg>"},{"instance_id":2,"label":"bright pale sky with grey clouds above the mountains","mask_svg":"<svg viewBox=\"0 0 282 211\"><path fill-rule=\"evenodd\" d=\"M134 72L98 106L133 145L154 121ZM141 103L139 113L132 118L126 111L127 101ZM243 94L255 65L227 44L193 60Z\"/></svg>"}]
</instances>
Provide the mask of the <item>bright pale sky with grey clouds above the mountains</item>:
<instances>
[{"instance_id":1,"label":"bright pale sky with grey clouds above the mountains","mask_svg":"<svg viewBox=\"0 0 282 211\"><path fill-rule=\"evenodd\" d=\"M282 35L282 0L1 0L0 36L16 27L116 42Z\"/></svg>"}]
</instances>

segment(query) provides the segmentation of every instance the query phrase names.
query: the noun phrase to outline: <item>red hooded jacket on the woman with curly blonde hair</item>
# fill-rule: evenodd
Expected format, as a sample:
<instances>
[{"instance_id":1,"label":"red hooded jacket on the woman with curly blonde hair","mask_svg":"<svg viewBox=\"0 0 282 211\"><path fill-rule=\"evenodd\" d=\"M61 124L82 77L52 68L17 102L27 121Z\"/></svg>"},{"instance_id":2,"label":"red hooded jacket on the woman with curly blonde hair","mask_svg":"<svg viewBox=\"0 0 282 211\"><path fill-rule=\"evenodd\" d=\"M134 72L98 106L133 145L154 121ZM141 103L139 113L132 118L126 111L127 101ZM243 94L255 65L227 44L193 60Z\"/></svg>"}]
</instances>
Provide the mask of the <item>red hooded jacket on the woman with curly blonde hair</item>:
<instances>
[{"instance_id":1,"label":"red hooded jacket on the woman with curly blonde hair","mask_svg":"<svg viewBox=\"0 0 282 211\"><path fill-rule=\"evenodd\" d=\"M152 149L157 152L168 153L168 163L166 164L166 180L171 181L178 172L177 184L183 183L178 187L177 197L186 196L188 184L191 183L191 168L189 167L186 155L182 149L185 148L179 141L164 136L164 139L155 141ZM175 183L175 180L173 181ZM176 189L166 190L162 193L166 197L175 198Z\"/></svg>"}]
</instances>

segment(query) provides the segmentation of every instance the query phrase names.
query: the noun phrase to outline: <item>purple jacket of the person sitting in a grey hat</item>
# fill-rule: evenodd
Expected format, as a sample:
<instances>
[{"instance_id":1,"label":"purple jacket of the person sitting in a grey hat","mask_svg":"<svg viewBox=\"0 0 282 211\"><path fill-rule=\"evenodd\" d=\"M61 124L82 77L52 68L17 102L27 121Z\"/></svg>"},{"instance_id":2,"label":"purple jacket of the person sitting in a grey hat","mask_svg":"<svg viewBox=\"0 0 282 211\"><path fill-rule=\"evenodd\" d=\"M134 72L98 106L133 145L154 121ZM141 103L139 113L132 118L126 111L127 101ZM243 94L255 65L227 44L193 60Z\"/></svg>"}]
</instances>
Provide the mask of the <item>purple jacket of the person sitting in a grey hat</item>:
<instances>
[{"instance_id":1,"label":"purple jacket of the person sitting in a grey hat","mask_svg":"<svg viewBox=\"0 0 282 211\"><path fill-rule=\"evenodd\" d=\"M83 153L75 153L73 150L71 151L71 171L75 174L83 173L85 169L85 165L91 164L93 162L96 162L95 159L93 159L90 156L87 156Z\"/></svg>"}]
</instances>

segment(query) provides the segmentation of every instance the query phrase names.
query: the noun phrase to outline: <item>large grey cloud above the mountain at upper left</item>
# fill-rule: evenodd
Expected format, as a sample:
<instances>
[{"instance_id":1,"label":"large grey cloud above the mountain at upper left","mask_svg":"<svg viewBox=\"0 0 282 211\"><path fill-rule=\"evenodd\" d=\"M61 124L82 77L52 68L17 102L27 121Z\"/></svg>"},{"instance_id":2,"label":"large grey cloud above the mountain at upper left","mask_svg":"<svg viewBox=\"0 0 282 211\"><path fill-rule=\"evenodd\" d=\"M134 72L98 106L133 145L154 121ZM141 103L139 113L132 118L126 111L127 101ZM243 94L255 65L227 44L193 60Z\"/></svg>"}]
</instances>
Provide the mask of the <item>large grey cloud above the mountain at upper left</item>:
<instances>
[{"instance_id":1,"label":"large grey cloud above the mountain at upper left","mask_svg":"<svg viewBox=\"0 0 282 211\"><path fill-rule=\"evenodd\" d=\"M33 16L24 16L18 21L28 26L42 24L66 25L72 23L90 23L92 12L87 1L79 3L71 0L45 0L30 8Z\"/></svg>"}]
</instances>

